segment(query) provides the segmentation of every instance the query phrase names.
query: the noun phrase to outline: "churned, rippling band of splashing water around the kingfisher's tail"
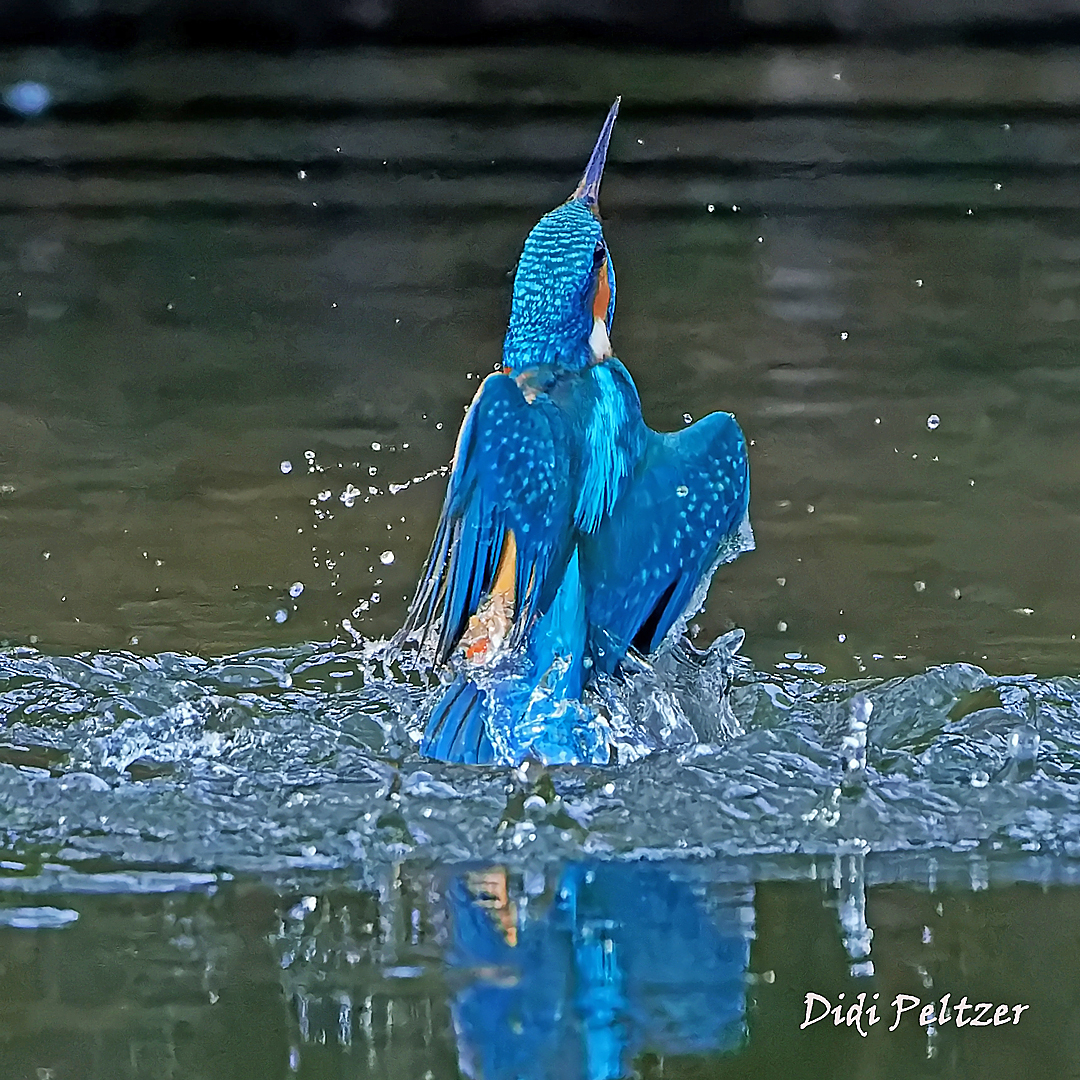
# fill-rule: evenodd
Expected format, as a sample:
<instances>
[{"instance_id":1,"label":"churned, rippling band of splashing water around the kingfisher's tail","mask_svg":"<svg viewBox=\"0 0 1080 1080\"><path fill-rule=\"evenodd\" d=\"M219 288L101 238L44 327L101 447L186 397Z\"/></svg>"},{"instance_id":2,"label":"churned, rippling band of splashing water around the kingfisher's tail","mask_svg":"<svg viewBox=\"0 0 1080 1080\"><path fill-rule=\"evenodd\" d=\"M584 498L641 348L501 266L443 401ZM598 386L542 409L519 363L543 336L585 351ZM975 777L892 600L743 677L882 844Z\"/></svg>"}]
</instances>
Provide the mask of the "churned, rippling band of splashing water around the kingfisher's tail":
<instances>
[{"instance_id":1,"label":"churned, rippling band of splashing water around the kingfisher's tail","mask_svg":"<svg viewBox=\"0 0 1080 1080\"><path fill-rule=\"evenodd\" d=\"M0 822L28 867L300 870L403 858L1080 854L1080 679L947 664L755 672L739 632L590 702L621 764L415 751L437 692L383 643L216 660L0 652ZM804 665L806 666L806 665ZM200 879L201 880L201 879ZM187 888L198 887L190 882Z\"/></svg>"}]
</instances>

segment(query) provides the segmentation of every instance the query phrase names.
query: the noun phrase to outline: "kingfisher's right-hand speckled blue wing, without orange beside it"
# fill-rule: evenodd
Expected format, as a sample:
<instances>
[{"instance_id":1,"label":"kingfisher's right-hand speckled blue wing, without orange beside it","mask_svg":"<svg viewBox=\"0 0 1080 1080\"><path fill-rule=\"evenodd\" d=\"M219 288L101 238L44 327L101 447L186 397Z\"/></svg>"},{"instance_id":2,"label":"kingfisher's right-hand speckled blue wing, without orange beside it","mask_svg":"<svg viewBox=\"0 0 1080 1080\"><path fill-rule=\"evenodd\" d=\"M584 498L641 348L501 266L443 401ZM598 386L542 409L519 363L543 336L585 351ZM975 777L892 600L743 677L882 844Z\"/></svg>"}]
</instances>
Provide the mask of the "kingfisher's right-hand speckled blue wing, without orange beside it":
<instances>
[{"instance_id":1,"label":"kingfisher's right-hand speckled blue wing, without orange beside it","mask_svg":"<svg viewBox=\"0 0 1080 1080\"><path fill-rule=\"evenodd\" d=\"M649 432L633 482L581 539L591 648L600 671L651 652L704 600L713 571L753 548L746 441L727 413Z\"/></svg>"}]
</instances>

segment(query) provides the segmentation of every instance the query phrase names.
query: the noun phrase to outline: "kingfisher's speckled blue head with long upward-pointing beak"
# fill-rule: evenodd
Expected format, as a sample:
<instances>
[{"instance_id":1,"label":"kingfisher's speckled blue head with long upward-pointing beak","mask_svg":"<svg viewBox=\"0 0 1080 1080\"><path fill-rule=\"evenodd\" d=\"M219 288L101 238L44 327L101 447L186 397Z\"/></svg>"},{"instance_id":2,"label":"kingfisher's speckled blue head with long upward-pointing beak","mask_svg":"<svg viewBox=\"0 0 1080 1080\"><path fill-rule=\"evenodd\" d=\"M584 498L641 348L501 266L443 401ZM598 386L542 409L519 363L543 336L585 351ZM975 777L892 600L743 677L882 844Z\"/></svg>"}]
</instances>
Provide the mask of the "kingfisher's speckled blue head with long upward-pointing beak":
<instances>
[{"instance_id":1,"label":"kingfisher's speckled blue head with long upward-pointing beak","mask_svg":"<svg viewBox=\"0 0 1080 1080\"><path fill-rule=\"evenodd\" d=\"M615 266L599 218L600 178L619 98L573 194L528 234L514 274L503 366L585 367L611 355Z\"/></svg>"}]
</instances>

